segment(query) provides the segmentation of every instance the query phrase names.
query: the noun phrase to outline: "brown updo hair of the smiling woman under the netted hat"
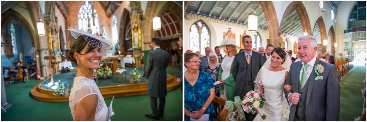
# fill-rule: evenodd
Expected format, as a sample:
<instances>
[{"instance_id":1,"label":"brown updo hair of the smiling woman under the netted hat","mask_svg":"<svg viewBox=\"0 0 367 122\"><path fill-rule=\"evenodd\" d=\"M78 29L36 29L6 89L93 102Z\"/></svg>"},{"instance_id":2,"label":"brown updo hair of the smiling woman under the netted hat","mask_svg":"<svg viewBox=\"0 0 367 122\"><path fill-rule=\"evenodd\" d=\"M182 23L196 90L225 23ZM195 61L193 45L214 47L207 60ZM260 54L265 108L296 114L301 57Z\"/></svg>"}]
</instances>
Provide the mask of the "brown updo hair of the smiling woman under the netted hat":
<instances>
[{"instance_id":1,"label":"brown updo hair of the smiling woman under the netted hat","mask_svg":"<svg viewBox=\"0 0 367 122\"><path fill-rule=\"evenodd\" d=\"M68 52L68 54L66 54L66 57L74 62L76 65L76 59L74 57L74 52L78 52L80 55L84 55L87 54L87 52L93 50L94 48L88 44L88 51L84 52L83 54L81 53L81 50L83 50L83 48L87 45L87 41L83 36L79 36L77 39L75 39L75 41L70 45L70 51Z\"/></svg>"}]
</instances>

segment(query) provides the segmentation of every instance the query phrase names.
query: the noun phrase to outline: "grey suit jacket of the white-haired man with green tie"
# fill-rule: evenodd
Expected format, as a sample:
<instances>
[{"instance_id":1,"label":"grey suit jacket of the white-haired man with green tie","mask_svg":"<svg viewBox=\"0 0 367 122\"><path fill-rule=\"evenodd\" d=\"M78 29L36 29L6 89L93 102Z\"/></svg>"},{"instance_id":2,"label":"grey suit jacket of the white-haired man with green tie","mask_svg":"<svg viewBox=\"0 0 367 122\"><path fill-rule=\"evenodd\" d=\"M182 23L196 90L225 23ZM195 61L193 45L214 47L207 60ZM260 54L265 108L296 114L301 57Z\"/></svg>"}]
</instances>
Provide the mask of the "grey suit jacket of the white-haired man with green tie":
<instances>
[{"instance_id":1,"label":"grey suit jacket of the white-haired man with green tie","mask_svg":"<svg viewBox=\"0 0 367 122\"><path fill-rule=\"evenodd\" d=\"M340 79L337 67L334 64L329 64L316 58L314 68L317 64L321 64L324 67L324 72L322 74L319 73L320 76L323 76L323 80L315 80L317 75L313 74L315 70L312 70L307 89L306 121L338 121L340 110ZM290 93L299 93L301 91L298 89L301 67L302 62L291 64L285 84L291 84L292 90L286 91L284 89L287 100ZM295 117L295 113L297 112L296 107L297 105L291 106L289 114L290 121Z\"/></svg>"}]
</instances>

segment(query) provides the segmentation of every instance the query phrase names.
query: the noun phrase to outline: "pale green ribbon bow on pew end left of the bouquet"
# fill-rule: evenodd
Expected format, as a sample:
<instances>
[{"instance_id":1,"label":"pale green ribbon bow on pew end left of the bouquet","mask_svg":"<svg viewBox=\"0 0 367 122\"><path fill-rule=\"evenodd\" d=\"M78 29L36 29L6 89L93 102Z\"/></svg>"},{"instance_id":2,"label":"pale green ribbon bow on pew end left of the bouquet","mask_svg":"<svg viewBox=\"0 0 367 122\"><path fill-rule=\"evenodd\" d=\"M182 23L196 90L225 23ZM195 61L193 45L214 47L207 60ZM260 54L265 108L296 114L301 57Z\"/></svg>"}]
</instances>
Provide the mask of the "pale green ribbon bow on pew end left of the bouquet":
<instances>
[{"instance_id":1,"label":"pale green ribbon bow on pew end left of the bouquet","mask_svg":"<svg viewBox=\"0 0 367 122\"><path fill-rule=\"evenodd\" d=\"M243 121L245 119L244 112L243 112L243 109L241 107L241 103L242 103L242 101L240 99L240 96L236 96L235 100L233 102L232 101L226 101L226 104L224 105L224 109L226 109L228 111L226 121L229 121L228 115L233 112L233 106L235 106L239 110L240 113L238 113L238 114L242 114L241 121ZM237 114L237 116L238 116L238 114Z\"/></svg>"}]
</instances>

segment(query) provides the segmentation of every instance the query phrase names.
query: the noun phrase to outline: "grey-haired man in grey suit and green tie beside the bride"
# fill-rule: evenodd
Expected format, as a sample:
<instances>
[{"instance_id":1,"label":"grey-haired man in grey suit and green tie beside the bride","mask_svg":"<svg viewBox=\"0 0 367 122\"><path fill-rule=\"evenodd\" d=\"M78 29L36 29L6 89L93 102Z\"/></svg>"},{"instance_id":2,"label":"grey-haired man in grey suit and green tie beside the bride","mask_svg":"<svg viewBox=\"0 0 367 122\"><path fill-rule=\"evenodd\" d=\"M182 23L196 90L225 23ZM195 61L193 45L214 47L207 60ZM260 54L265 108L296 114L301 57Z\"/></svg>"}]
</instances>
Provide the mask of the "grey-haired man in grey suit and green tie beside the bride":
<instances>
[{"instance_id":1,"label":"grey-haired man in grey suit and green tie beside the bride","mask_svg":"<svg viewBox=\"0 0 367 122\"><path fill-rule=\"evenodd\" d=\"M297 41L301 62L291 64L284 86L284 94L291 105L289 120L338 121L340 79L337 67L315 57L317 42L312 36L301 36ZM324 70L315 71L317 65Z\"/></svg>"}]
</instances>

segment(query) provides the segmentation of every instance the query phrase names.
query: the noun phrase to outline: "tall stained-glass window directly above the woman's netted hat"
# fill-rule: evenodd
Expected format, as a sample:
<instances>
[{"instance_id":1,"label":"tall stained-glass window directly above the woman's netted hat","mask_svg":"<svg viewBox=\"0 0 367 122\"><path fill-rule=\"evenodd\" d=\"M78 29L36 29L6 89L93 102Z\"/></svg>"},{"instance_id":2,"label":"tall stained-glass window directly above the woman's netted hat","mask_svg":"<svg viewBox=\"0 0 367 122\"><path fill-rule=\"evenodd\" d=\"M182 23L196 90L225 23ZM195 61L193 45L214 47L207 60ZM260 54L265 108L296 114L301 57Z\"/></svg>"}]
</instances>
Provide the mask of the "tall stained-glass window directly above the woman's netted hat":
<instances>
[{"instance_id":1,"label":"tall stained-glass window directly above the woman's netted hat","mask_svg":"<svg viewBox=\"0 0 367 122\"><path fill-rule=\"evenodd\" d=\"M92 14L94 15L94 23ZM83 29L90 29L92 31L92 34L96 34L99 31L98 14L95 11L95 8L92 10L92 5L90 4L90 2L86 1L83 5L81 5L78 18L78 24ZM90 28L88 27L88 25L90 25Z\"/></svg>"}]
</instances>

